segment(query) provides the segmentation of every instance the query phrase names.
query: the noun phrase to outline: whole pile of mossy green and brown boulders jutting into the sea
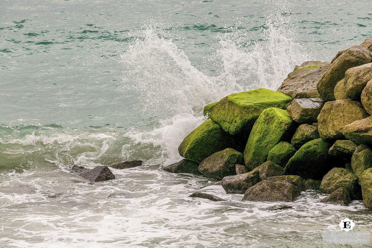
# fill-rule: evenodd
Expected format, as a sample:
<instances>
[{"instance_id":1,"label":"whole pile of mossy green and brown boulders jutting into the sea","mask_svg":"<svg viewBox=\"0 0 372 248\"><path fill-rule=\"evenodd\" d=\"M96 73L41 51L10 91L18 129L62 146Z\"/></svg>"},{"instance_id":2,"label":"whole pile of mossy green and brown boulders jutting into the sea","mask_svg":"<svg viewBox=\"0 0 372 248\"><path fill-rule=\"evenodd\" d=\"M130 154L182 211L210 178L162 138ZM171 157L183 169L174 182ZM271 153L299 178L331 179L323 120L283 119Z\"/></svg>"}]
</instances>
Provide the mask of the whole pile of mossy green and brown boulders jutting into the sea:
<instances>
[{"instance_id":1,"label":"whole pile of mossy green and brown boulders jutting into the sea","mask_svg":"<svg viewBox=\"0 0 372 248\"><path fill-rule=\"evenodd\" d=\"M231 94L204 115L179 146L185 159L165 170L221 180L242 200L292 202L314 189L330 194L322 202L372 209L372 38L296 66L277 91Z\"/></svg>"}]
</instances>

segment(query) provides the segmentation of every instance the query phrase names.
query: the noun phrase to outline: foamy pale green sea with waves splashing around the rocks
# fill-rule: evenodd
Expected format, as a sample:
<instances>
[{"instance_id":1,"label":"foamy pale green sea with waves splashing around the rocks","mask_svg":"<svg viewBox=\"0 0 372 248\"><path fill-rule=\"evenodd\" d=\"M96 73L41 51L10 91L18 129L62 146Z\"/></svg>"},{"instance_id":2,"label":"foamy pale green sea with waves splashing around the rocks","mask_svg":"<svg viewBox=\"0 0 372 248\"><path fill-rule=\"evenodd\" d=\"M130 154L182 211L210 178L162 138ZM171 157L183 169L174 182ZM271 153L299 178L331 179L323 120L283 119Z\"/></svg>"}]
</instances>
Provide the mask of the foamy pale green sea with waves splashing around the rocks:
<instances>
[{"instance_id":1,"label":"foamy pale green sea with waves splashing around the rocks","mask_svg":"<svg viewBox=\"0 0 372 248\"><path fill-rule=\"evenodd\" d=\"M276 90L371 27L370 0L2 0L0 247L314 248L344 218L370 231L358 201L307 191L272 212L221 186L201 191L227 202L191 199L210 181L162 168L206 104ZM135 159L102 183L69 169Z\"/></svg>"}]
</instances>

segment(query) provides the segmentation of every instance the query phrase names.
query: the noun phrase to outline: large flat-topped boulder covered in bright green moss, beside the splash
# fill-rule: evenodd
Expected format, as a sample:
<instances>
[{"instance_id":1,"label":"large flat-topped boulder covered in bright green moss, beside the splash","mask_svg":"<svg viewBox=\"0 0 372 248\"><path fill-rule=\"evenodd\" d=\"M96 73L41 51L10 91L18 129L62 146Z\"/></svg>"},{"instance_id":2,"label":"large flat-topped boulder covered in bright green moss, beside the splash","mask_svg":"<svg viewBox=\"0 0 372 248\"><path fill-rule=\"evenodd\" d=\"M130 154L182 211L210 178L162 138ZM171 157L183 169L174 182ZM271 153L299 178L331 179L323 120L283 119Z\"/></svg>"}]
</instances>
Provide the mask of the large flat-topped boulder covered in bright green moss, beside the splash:
<instances>
[{"instance_id":1,"label":"large flat-topped boulder covered in bright green moss, beside the splash","mask_svg":"<svg viewBox=\"0 0 372 248\"><path fill-rule=\"evenodd\" d=\"M209 117L231 135L249 133L264 109L270 107L286 109L291 101L292 98L283 93L258 88L223 98L216 104Z\"/></svg>"}]
</instances>

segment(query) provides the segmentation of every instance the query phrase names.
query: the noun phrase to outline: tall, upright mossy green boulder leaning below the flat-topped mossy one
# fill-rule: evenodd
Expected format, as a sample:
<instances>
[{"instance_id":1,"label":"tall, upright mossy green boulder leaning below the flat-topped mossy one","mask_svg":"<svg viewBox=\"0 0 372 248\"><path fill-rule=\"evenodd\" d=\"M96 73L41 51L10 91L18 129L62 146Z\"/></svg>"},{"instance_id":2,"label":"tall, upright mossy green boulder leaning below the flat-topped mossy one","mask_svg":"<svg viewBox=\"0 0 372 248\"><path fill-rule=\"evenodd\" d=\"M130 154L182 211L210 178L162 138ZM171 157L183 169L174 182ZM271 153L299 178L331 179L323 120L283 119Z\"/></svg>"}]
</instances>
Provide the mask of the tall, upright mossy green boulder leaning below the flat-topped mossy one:
<instances>
[{"instance_id":1,"label":"tall, upright mossy green boulder leaning below the flat-topped mossy one","mask_svg":"<svg viewBox=\"0 0 372 248\"><path fill-rule=\"evenodd\" d=\"M249 170L266 161L269 151L288 135L292 128L292 118L286 110L265 109L253 125L249 135L244 161Z\"/></svg>"}]
</instances>

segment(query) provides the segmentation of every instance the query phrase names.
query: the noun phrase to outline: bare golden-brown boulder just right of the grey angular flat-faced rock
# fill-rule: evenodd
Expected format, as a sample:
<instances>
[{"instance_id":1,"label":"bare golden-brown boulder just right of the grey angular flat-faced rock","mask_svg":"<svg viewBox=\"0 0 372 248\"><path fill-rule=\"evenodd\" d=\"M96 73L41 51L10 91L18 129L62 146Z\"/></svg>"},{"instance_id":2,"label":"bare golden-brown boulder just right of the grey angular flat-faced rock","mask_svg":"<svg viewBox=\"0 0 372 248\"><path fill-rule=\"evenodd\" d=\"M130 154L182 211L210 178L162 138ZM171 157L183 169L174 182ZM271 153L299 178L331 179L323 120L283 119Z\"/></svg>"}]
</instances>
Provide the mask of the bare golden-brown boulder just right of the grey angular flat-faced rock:
<instances>
[{"instance_id":1,"label":"bare golden-brown boulder just right of the grey angular flat-faced rock","mask_svg":"<svg viewBox=\"0 0 372 248\"><path fill-rule=\"evenodd\" d=\"M336 100L324 104L318 116L318 132L324 141L343 139L346 125L367 117L362 104L350 99Z\"/></svg>"}]
</instances>

